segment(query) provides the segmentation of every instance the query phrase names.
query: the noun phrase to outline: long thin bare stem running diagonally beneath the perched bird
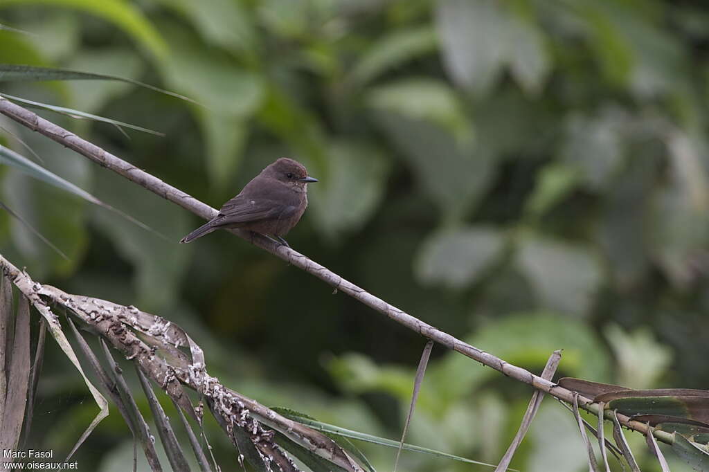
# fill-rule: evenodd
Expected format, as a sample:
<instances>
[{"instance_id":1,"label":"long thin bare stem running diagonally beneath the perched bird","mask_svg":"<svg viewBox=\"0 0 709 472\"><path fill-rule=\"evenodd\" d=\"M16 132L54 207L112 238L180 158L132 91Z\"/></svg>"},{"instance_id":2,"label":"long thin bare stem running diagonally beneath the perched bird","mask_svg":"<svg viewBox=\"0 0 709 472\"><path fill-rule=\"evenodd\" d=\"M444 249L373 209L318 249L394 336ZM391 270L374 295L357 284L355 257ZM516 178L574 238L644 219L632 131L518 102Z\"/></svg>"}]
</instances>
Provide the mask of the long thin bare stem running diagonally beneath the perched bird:
<instances>
[{"instance_id":1,"label":"long thin bare stem running diagonally beneath the perched bird","mask_svg":"<svg viewBox=\"0 0 709 472\"><path fill-rule=\"evenodd\" d=\"M36 113L33 113L32 111L29 111L28 109L18 106L15 103L1 97L0 113L16 120L18 123L25 125L31 130L50 137L50 139L59 142L65 147L69 147L69 149L72 149L79 154L82 154L84 157L91 159L102 167L106 167L114 172L117 172L118 174L121 174L126 179L135 182L135 184L143 186L145 189L157 193L157 195L162 196L173 203L177 203L177 205L182 206L182 208L190 210L192 213L195 213L206 220L213 218L213 216L217 213L217 210L211 206L208 206L206 203L202 203L193 196L190 196L189 194L166 184L157 177L133 166L133 164L125 162L120 157L117 157L110 152L101 149L101 147L98 147L91 142L74 135L74 133L69 130L65 130L60 126L41 118ZM387 318L398 322L410 330L418 332L423 337L427 337L438 344L442 344L443 346L453 349L464 356L468 356L471 359L479 361L481 364L489 366L496 371L500 371L506 376L515 378L515 380L528 383L530 386L537 388L537 390L542 390L549 393L549 395L559 398L559 400L563 400L566 403L574 403L574 392L571 390L567 390L552 381L536 376L526 369L509 364L508 362L503 361L503 359L493 356L493 354L489 354L488 352L484 352L481 349L477 349L476 347L471 346L470 344L467 344L466 342L463 342L460 339L447 334L446 332L437 330L435 327L428 325L428 323L418 320L418 318L414 318L403 310L386 303L386 301L372 295L354 283L343 279L333 271L330 271L327 267L314 262L294 249L277 245L267 237L245 230L230 231L242 239L252 242L252 244L265 249L286 262L289 262L289 264L298 267L298 269L302 269L303 271L316 276L318 279L328 283L330 286L335 287L338 291L342 291L352 298L359 300L359 302L364 303L364 305L369 306L369 308L386 315ZM588 410L596 415L598 414L598 405L593 403L591 399L579 395L578 403L580 408L584 408L585 410ZM606 410L604 415L608 420L613 419L613 412L610 412L609 410ZM620 414L618 415L618 420L621 425L627 427L628 429L633 429L637 432L641 432L642 434L647 434L648 427L642 422L631 420L630 417ZM654 434L654 436L661 442L666 442L667 444L673 444L674 442L672 435L666 432L657 431L656 429L652 434Z\"/></svg>"}]
</instances>

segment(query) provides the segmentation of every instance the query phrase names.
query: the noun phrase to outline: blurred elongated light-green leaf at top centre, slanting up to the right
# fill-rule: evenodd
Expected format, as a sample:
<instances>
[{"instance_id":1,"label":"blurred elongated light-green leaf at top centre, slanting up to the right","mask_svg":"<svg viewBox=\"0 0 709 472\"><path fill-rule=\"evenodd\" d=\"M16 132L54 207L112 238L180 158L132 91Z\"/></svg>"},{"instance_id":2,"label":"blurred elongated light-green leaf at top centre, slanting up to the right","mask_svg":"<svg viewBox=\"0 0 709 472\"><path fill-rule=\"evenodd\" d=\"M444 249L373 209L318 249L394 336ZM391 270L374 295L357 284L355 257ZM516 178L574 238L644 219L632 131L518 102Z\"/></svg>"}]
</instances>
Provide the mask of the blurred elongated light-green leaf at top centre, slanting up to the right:
<instances>
[{"instance_id":1,"label":"blurred elongated light-green leaf at top centre, slanting up to the right","mask_svg":"<svg viewBox=\"0 0 709 472\"><path fill-rule=\"evenodd\" d=\"M416 57L428 55L438 44L430 26L397 30L379 38L354 64L350 80L360 86Z\"/></svg>"}]
</instances>

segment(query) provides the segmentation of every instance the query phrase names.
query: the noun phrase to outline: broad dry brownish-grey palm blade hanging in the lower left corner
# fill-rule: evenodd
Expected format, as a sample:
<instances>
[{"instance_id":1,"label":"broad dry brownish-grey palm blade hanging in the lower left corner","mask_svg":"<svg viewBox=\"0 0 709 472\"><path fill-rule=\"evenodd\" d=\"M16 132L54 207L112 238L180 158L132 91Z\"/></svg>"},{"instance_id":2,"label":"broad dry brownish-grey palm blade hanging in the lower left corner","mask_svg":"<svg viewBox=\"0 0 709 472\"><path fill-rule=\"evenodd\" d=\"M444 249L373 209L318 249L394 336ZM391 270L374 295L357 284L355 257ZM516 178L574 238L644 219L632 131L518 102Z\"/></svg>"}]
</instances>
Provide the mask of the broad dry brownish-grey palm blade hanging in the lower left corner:
<instances>
[{"instance_id":1,"label":"broad dry brownish-grey palm blade hanging in the lower left corner","mask_svg":"<svg viewBox=\"0 0 709 472\"><path fill-rule=\"evenodd\" d=\"M7 394L0 421L0 449L17 450L25 417L30 379L30 304L24 296L18 303ZM3 454L3 457L5 455ZM6 459L3 459L6 461ZM12 460L10 460L12 462Z\"/></svg>"}]
</instances>

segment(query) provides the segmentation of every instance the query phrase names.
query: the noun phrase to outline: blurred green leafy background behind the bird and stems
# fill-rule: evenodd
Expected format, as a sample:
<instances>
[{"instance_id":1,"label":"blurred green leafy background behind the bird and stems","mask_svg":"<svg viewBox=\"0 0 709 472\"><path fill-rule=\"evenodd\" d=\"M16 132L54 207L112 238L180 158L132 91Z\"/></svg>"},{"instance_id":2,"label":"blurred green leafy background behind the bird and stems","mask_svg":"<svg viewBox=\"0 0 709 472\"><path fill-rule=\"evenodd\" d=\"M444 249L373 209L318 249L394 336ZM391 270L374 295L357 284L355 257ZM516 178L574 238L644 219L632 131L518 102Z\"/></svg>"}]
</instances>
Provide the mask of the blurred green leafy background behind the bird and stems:
<instances>
[{"instance_id":1,"label":"blurred green leafy background behind the bird and stems","mask_svg":"<svg viewBox=\"0 0 709 472\"><path fill-rule=\"evenodd\" d=\"M282 155L304 162L320 183L291 246L418 318L533 371L564 349L563 375L709 382L704 2L4 0L0 23L30 32L0 31L0 62L118 74L199 101L118 82L0 90L160 130L128 139L47 115L202 201L220 206ZM70 259L3 214L14 264L174 320L220 380L267 405L398 437L423 339L230 235L177 245L196 218L1 125L174 241L3 168L2 201ZM93 415L67 372L49 356L36 446L69 449ZM529 396L436 347L409 442L495 462ZM391 468L393 451L363 447ZM233 466L228 445L216 451ZM584 454L571 415L547 400L512 466L583 470ZM111 415L77 459L112 471L131 456ZM472 470L411 453L402 466Z\"/></svg>"}]
</instances>

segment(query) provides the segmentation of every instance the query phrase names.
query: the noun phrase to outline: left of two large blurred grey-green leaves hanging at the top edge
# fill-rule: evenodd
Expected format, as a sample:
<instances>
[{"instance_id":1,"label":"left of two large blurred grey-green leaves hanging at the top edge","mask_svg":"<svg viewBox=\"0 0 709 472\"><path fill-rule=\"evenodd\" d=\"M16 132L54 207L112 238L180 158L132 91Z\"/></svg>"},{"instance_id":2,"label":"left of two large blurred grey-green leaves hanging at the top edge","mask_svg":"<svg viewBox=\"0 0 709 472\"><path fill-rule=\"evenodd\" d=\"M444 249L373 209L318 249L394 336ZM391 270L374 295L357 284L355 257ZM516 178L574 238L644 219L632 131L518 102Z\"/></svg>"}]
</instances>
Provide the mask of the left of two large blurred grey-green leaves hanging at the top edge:
<instances>
[{"instance_id":1,"label":"left of two large blurred grey-green leaves hanging at the top edge","mask_svg":"<svg viewBox=\"0 0 709 472\"><path fill-rule=\"evenodd\" d=\"M459 86L488 91L502 71L508 20L495 0L441 0L436 24L444 66Z\"/></svg>"}]
</instances>

